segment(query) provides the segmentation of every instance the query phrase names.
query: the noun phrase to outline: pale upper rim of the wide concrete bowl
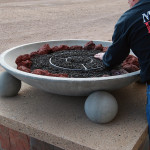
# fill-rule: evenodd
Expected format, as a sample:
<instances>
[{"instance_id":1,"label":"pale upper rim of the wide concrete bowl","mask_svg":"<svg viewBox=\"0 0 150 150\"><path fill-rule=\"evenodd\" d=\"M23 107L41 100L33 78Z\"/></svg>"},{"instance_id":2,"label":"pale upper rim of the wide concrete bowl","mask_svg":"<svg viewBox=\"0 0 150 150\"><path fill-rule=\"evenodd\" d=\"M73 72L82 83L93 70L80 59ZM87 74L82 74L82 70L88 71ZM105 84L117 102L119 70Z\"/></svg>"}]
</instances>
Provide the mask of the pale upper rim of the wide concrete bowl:
<instances>
[{"instance_id":1,"label":"pale upper rim of the wide concrete bowl","mask_svg":"<svg viewBox=\"0 0 150 150\"><path fill-rule=\"evenodd\" d=\"M38 44L38 43L45 43L45 42L65 42L65 41L93 41L93 42L109 42L111 43L111 41L103 41L103 40L85 40L85 39L64 39L64 40L48 40L48 41L39 41L39 42L33 42L33 43L27 43L27 44L22 44L22 45L18 45L16 47L10 48L6 51L4 51L1 55L0 55L0 65L6 69L8 72L14 72L17 74L21 74L24 75L26 77L32 77L32 78L36 78L36 79L51 79L51 80L60 80L60 81L103 81L103 80L112 80L112 79L121 79L121 78L127 78L130 76L137 76L140 74L140 70L132 72L132 73L127 73L127 74L122 74L122 75L117 75L117 76L109 76L109 77L92 77L92 78L65 78L65 77L52 77L52 76L43 76L43 75L36 75L36 74L32 74L32 73L27 73L24 71L20 71L17 68L11 67L10 65L8 65L6 63L6 61L4 60L4 58L6 57L7 54L9 54L9 52L15 50L16 48L20 48L23 46L28 46L28 45L34 45L34 44ZM23 55L23 54L22 54Z\"/></svg>"}]
</instances>

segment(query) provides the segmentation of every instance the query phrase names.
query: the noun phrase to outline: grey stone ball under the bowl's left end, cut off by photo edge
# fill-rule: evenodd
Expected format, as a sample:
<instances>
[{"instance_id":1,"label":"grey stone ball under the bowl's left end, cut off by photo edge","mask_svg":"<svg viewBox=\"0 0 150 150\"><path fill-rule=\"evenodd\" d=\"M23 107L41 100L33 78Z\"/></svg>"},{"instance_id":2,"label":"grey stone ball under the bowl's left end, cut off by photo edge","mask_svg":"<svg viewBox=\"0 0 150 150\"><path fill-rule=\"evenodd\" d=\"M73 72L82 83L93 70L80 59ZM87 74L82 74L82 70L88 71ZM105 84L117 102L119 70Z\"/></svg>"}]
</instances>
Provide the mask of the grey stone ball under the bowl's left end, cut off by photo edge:
<instances>
[{"instance_id":1,"label":"grey stone ball under the bowl's left end, cut off by photo edge","mask_svg":"<svg viewBox=\"0 0 150 150\"><path fill-rule=\"evenodd\" d=\"M2 72L0 74L0 96L16 96L21 88L21 81L9 74Z\"/></svg>"}]
</instances>

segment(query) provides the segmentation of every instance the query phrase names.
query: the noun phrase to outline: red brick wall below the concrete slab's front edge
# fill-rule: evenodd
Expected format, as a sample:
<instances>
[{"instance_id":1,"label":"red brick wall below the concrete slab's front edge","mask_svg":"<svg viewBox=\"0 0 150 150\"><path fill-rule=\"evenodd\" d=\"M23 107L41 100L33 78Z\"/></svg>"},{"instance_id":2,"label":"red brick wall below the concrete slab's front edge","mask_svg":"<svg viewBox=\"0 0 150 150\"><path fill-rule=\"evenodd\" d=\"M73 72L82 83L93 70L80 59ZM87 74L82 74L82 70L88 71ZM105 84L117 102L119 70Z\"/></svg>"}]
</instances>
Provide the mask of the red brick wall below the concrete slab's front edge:
<instances>
[{"instance_id":1,"label":"red brick wall below the concrete slab's front edge","mask_svg":"<svg viewBox=\"0 0 150 150\"><path fill-rule=\"evenodd\" d=\"M62 150L0 125L0 150Z\"/></svg>"}]
</instances>

